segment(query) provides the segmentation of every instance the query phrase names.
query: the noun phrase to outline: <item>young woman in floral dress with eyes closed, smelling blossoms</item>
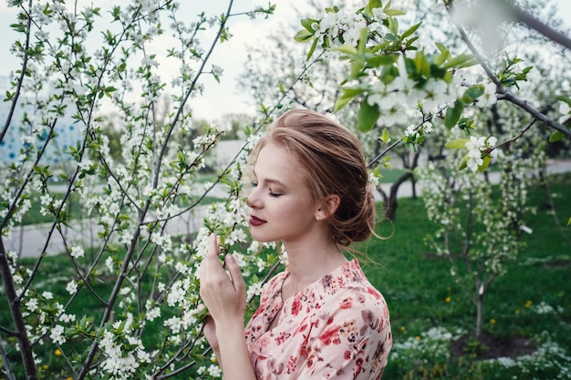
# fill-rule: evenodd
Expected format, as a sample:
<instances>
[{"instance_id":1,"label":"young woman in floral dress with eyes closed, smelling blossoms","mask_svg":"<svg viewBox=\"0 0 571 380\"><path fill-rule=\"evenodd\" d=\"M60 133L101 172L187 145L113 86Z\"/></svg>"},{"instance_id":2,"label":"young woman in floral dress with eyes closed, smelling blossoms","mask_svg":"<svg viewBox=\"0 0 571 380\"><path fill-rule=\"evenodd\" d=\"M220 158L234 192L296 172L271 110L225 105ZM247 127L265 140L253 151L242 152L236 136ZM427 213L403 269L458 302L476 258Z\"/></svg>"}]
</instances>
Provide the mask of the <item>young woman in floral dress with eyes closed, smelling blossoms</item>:
<instances>
[{"instance_id":1,"label":"young woman in floral dress with eyes closed, smelling blossoms","mask_svg":"<svg viewBox=\"0 0 571 380\"><path fill-rule=\"evenodd\" d=\"M202 262L205 335L224 380L380 379L392 344L389 311L342 250L372 233L375 204L358 139L307 110L286 112L252 153L250 231L283 241L288 264L265 285L245 327L244 280L216 236Z\"/></svg>"}]
</instances>

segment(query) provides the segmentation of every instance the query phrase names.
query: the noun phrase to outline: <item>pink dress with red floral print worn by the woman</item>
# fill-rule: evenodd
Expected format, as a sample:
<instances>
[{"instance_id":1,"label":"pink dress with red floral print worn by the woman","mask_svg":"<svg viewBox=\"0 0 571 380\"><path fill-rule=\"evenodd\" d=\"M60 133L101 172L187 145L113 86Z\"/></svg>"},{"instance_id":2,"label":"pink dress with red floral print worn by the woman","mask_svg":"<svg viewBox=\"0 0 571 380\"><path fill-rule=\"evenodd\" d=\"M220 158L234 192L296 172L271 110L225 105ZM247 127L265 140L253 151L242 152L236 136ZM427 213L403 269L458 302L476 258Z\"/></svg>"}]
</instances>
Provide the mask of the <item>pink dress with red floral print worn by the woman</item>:
<instances>
[{"instance_id":1,"label":"pink dress with red floral print worn by the woman","mask_svg":"<svg viewBox=\"0 0 571 380\"><path fill-rule=\"evenodd\" d=\"M283 301L288 274L265 285L245 329L256 378L379 379L392 345L389 309L358 261ZM280 310L279 323L268 331Z\"/></svg>"}]
</instances>

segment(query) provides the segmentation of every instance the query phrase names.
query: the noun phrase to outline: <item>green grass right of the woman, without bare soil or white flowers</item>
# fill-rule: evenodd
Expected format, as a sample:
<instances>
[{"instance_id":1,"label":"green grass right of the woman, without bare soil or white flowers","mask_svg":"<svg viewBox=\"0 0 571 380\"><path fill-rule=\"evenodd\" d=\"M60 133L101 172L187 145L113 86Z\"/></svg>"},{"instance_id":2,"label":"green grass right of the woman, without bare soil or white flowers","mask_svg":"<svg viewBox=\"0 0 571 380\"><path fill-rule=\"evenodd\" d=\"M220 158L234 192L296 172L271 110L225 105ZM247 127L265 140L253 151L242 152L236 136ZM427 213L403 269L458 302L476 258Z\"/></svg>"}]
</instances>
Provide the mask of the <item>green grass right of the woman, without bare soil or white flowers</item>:
<instances>
[{"instance_id":1,"label":"green grass right of the woman, without bare soil or white flowers","mask_svg":"<svg viewBox=\"0 0 571 380\"><path fill-rule=\"evenodd\" d=\"M558 177L550 182L550 188L561 229L555 227L554 213L545 207L545 191L535 186L529 200L537 211L525 218L533 233L524 234L525 246L517 260L506 264L507 273L496 279L485 295L483 334L500 342L515 336L535 341L546 333L556 344L571 347L571 226L566 227L571 216L571 177ZM386 226L384 230L380 233L389 233ZM403 199L399 200L392 238L369 241L362 248L380 262L365 266L364 271L389 303L395 344L420 337L433 327L462 328L468 340L475 331L475 306L452 281L448 262L427 252L423 243L431 231L422 201ZM535 307L541 303L552 306L555 313L536 313ZM569 348L566 355L571 356ZM427 369L427 365L420 368L412 360L408 366L399 366L389 358L385 377L476 379L482 374L483 378L493 378L492 372L497 371L486 373L483 362L473 359L470 365L475 375L469 376L463 372L466 365L466 358L452 357L444 369L437 368L438 364ZM535 378L551 378L548 370L542 371L540 368ZM509 371L504 376L497 378L532 378Z\"/></svg>"}]
</instances>

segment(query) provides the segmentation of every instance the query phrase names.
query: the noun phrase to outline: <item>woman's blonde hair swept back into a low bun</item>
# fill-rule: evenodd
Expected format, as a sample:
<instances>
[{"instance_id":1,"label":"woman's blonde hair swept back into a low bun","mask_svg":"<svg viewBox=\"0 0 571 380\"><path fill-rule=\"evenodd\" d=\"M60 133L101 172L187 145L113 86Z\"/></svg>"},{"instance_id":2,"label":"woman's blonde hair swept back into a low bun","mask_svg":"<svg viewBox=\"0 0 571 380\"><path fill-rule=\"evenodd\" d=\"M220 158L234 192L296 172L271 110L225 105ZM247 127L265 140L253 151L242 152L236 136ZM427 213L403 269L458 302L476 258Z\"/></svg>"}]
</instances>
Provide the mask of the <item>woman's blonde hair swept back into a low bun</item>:
<instances>
[{"instance_id":1,"label":"woman's blonde hair swept back into a low bun","mask_svg":"<svg viewBox=\"0 0 571 380\"><path fill-rule=\"evenodd\" d=\"M355 134L317 112L294 109L275 120L257 142L252 164L260 150L270 143L287 149L296 159L323 210L327 210L327 196L339 197L337 211L327 218L337 244L348 247L351 242L365 241L374 233L375 200Z\"/></svg>"}]
</instances>

